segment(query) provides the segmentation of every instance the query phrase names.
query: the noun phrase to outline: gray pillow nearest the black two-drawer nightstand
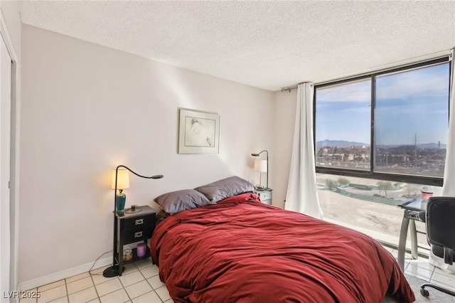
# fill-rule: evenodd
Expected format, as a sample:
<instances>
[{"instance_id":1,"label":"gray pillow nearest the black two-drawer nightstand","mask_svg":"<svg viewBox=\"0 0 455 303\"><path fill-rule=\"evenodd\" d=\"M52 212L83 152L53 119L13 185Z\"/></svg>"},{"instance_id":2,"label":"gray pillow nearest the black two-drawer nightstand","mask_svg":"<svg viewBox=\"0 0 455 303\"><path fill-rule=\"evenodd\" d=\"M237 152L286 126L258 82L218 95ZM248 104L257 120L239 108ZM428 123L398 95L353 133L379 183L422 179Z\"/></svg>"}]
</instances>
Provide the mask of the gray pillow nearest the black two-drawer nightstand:
<instances>
[{"instance_id":1,"label":"gray pillow nearest the black two-drawer nightstand","mask_svg":"<svg viewBox=\"0 0 455 303\"><path fill-rule=\"evenodd\" d=\"M161 196L154 198L166 213L178 213L186 209L197 208L214 204L210 202L202 193L194 189L183 189L181 191L171 191L163 193Z\"/></svg>"}]
</instances>

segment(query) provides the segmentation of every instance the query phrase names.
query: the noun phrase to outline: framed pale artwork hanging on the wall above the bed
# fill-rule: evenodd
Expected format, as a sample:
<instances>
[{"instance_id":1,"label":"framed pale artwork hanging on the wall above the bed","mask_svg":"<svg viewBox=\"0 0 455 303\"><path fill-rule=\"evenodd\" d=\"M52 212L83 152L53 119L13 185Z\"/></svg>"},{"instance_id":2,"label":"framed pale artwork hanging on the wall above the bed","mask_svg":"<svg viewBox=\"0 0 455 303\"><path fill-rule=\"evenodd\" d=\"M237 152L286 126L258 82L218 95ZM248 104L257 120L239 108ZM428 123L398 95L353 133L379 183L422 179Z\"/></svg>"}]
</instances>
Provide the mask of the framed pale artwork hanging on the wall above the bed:
<instances>
[{"instance_id":1,"label":"framed pale artwork hanging on the wall above the bed","mask_svg":"<svg viewBox=\"0 0 455 303\"><path fill-rule=\"evenodd\" d=\"M178 109L178 154L218 154L220 115Z\"/></svg>"}]
</instances>

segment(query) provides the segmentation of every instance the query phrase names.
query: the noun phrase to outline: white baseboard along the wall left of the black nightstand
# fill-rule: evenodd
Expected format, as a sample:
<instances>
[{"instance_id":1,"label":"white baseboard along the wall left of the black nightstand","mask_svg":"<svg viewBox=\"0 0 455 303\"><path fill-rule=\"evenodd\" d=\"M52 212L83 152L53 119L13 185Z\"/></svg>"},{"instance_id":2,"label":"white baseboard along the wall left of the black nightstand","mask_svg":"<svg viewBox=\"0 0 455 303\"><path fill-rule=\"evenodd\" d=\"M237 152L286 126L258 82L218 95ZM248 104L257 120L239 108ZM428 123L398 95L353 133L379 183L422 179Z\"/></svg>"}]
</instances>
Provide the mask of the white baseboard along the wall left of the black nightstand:
<instances>
[{"instance_id":1,"label":"white baseboard along the wall left of the black nightstand","mask_svg":"<svg viewBox=\"0 0 455 303\"><path fill-rule=\"evenodd\" d=\"M103 259L97 260L92 270L111 264L112 257L105 257ZM66 279L68 277L73 277L74 275L80 275L84 272L88 272L92 266L93 262L90 262L73 268L68 268L68 270L62 270L61 272L54 272L53 274L50 275L45 275L43 277L37 277L36 279L20 282L18 284L18 291L24 292L26 290L33 289L38 286L43 286L52 282L57 282Z\"/></svg>"}]
</instances>

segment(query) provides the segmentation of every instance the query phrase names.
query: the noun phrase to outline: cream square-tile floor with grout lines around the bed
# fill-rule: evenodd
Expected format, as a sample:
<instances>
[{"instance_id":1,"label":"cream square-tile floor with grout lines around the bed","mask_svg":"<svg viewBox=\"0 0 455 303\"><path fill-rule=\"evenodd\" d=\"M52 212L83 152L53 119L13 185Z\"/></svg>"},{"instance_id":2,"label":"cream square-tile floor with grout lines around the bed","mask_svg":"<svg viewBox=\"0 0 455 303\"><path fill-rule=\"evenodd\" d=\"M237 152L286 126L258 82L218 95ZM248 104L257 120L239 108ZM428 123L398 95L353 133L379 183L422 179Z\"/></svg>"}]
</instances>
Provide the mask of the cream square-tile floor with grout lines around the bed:
<instances>
[{"instance_id":1,"label":"cream square-tile floor with grout lines around the bed","mask_svg":"<svg viewBox=\"0 0 455 303\"><path fill-rule=\"evenodd\" d=\"M397 250L387 248L397 257ZM144 259L126 265L121 277L106 278L102 276L105 267L92 270L92 275L85 272L58 282L30 289L39 291L38 299L21 299L20 303L161 303L173 302L166 285L159 280L158 267L151 260ZM409 254L405 257L405 273L419 277L455 291L455 275L444 272L428 259L419 257L412 260Z\"/></svg>"}]
</instances>

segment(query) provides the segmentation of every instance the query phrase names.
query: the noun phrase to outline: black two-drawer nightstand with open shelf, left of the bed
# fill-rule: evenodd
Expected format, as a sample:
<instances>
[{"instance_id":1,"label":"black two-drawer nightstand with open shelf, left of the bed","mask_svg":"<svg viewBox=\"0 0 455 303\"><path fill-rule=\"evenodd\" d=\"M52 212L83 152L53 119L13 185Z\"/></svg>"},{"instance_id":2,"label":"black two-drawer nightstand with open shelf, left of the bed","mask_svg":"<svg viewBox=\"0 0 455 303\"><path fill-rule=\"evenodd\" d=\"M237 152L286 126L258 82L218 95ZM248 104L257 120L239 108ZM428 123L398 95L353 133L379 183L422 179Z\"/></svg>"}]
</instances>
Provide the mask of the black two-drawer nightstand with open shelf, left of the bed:
<instances>
[{"instance_id":1,"label":"black two-drawer nightstand with open shelf, left of the bed","mask_svg":"<svg viewBox=\"0 0 455 303\"><path fill-rule=\"evenodd\" d=\"M140 209L140 211L139 211ZM124 213L114 215L114 253L112 254L112 265L103 272L105 277L121 276L123 265L134 262L145 257L150 257L150 248L147 245L146 255L137 256L137 249L133 248L133 258L129 261L123 260L123 245L147 240L151 238L155 228L155 211L150 206L137 206L136 211L131 208L125 209Z\"/></svg>"}]
</instances>

